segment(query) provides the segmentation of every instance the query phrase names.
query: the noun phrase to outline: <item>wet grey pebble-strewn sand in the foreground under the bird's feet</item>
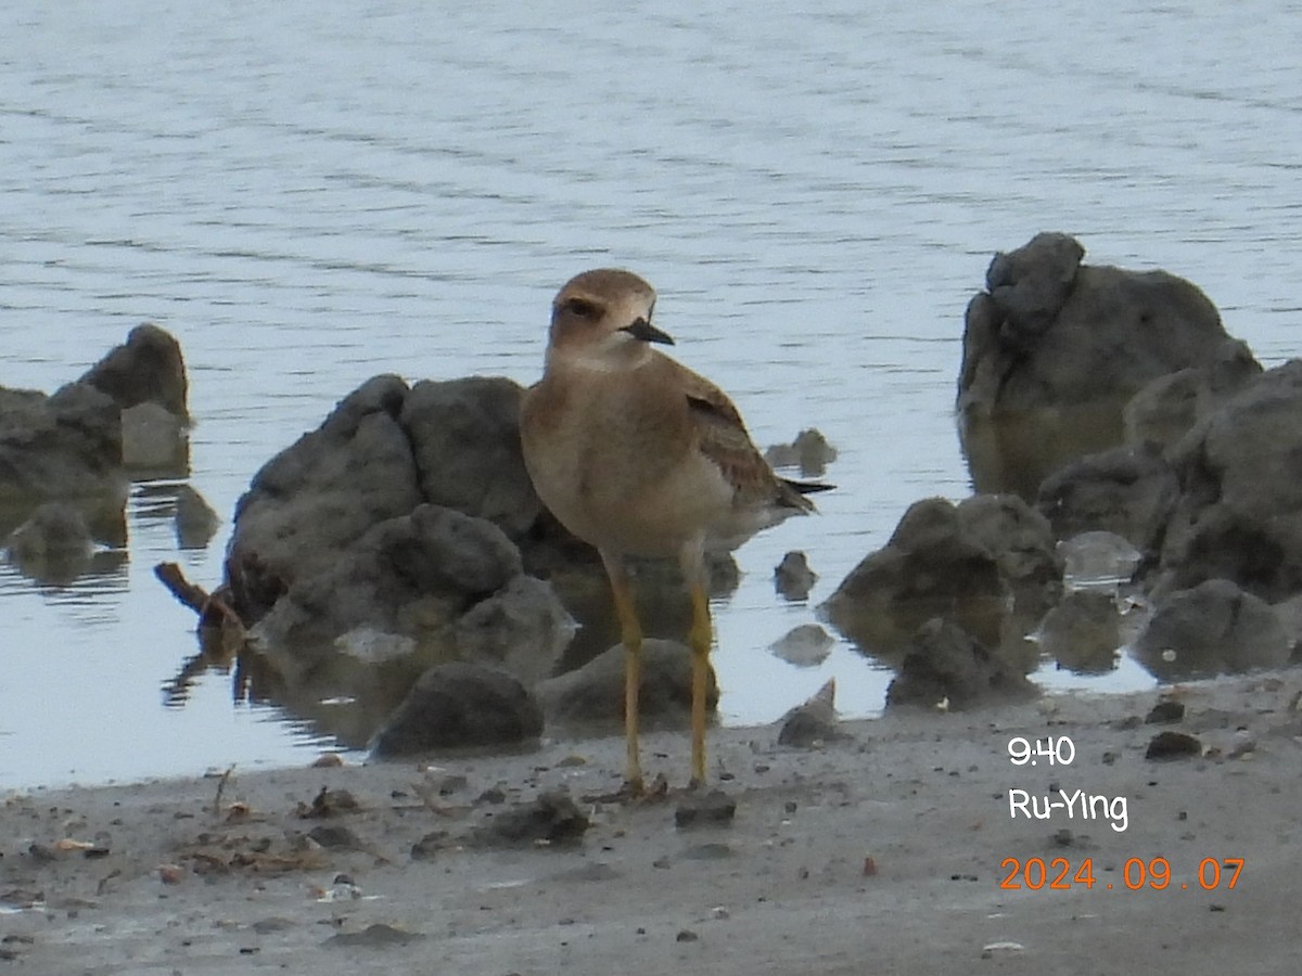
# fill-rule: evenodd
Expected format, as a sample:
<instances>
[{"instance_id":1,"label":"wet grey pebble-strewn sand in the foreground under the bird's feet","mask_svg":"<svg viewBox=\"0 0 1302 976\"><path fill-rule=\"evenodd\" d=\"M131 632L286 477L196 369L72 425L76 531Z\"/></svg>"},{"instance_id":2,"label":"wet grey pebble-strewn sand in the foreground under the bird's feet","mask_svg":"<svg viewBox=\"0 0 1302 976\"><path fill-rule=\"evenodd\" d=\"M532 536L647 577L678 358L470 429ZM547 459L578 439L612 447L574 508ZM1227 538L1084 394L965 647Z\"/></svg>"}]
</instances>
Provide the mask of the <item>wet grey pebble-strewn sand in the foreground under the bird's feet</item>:
<instances>
[{"instance_id":1,"label":"wet grey pebble-strewn sand in the foreground under the bird's feet","mask_svg":"<svg viewBox=\"0 0 1302 976\"><path fill-rule=\"evenodd\" d=\"M26 791L0 807L0 972L1292 971L1299 692L1295 670L1186 685L1173 725L1144 724L1156 692L889 714L811 751L715 730L737 809L695 828L678 791L594 799L618 737ZM1163 730L1200 755L1146 759ZM1074 760L1016 766L1016 737L1068 737ZM685 779L686 735L643 755ZM577 845L484 839L557 787L591 820ZM1010 813L1057 790L1094 816Z\"/></svg>"}]
</instances>

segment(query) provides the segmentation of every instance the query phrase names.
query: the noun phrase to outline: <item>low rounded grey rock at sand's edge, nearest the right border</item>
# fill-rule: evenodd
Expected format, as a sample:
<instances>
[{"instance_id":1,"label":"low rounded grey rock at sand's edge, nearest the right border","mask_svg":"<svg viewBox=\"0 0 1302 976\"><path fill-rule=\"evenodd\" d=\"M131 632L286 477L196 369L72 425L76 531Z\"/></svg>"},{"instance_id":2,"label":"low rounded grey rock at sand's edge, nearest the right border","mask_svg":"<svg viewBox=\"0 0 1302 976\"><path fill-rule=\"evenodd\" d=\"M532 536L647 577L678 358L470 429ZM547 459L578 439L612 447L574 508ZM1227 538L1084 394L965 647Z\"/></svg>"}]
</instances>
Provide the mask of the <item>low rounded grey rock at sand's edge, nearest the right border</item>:
<instances>
[{"instance_id":1,"label":"low rounded grey rock at sand's edge, nearest the right border","mask_svg":"<svg viewBox=\"0 0 1302 976\"><path fill-rule=\"evenodd\" d=\"M1157 678L1177 681L1282 666L1292 642L1269 604L1210 579L1161 600L1133 649Z\"/></svg>"}]
</instances>

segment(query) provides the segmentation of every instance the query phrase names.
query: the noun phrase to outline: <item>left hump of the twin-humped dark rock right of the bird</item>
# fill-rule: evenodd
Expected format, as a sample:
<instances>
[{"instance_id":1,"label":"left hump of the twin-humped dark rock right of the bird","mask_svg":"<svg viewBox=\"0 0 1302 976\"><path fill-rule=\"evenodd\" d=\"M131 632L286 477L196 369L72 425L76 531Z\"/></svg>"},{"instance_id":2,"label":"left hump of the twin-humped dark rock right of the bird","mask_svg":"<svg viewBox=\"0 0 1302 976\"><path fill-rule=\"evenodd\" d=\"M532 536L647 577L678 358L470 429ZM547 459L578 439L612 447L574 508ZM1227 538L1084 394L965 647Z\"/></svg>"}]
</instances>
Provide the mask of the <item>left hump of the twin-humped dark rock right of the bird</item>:
<instances>
[{"instance_id":1,"label":"left hump of the twin-humped dark rock right of the bird","mask_svg":"<svg viewBox=\"0 0 1302 976\"><path fill-rule=\"evenodd\" d=\"M999 560L944 498L915 502L885 548L863 558L819 608L865 652L906 648L932 617L996 644L1010 590Z\"/></svg>"}]
</instances>

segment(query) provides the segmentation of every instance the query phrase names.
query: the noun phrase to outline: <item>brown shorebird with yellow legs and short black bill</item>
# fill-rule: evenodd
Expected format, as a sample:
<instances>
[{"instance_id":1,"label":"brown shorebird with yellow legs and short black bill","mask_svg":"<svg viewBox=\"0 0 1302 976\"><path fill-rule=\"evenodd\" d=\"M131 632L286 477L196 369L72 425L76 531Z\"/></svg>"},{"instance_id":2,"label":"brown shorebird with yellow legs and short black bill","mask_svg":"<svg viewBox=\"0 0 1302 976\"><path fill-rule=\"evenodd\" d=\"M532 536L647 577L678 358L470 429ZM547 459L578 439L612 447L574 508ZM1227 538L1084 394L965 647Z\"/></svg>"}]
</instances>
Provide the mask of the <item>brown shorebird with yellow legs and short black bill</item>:
<instances>
[{"instance_id":1,"label":"brown shorebird with yellow legs and short black bill","mask_svg":"<svg viewBox=\"0 0 1302 976\"><path fill-rule=\"evenodd\" d=\"M728 396L655 346L656 293L620 268L585 271L552 302L542 379L521 400L525 467L542 502L599 553L624 645L625 789L638 755L642 625L629 557L677 558L691 604L691 778L706 782L706 685L713 627L707 549L733 549L832 485L780 478Z\"/></svg>"}]
</instances>

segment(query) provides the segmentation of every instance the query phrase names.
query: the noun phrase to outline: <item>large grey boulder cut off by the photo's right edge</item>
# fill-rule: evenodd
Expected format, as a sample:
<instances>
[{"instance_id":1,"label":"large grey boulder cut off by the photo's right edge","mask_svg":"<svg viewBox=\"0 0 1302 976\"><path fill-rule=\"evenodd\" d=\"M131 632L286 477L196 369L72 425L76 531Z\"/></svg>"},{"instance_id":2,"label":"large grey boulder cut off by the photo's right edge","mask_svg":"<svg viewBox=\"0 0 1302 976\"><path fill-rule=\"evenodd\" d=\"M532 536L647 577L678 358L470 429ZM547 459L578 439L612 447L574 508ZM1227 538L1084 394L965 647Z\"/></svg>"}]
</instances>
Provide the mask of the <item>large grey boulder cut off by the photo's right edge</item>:
<instances>
[{"instance_id":1,"label":"large grey boulder cut off by the photo's right edge","mask_svg":"<svg viewBox=\"0 0 1302 976\"><path fill-rule=\"evenodd\" d=\"M1302 592L1302 360L1263 373L1170 457L1184 491L1161 588L1224 578L1269 603Z\"/></svg>"}]
</instances>

